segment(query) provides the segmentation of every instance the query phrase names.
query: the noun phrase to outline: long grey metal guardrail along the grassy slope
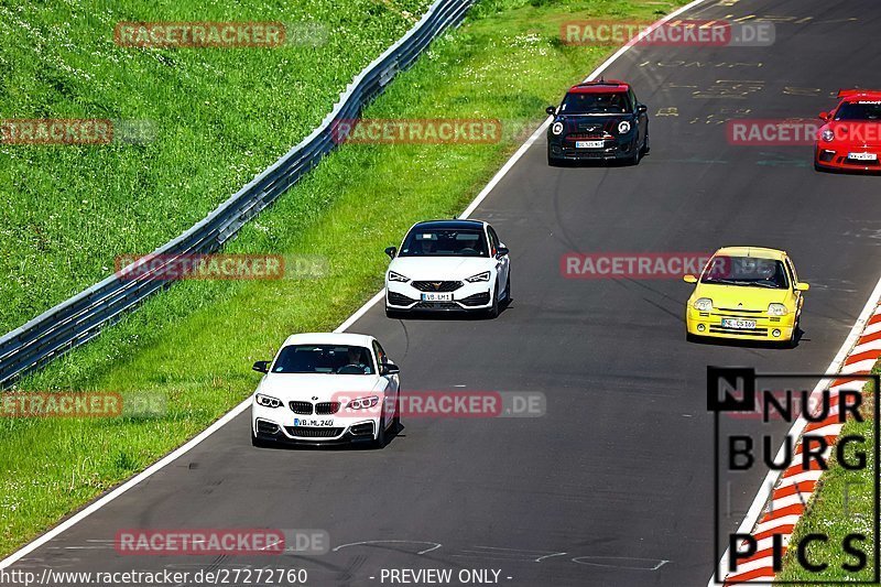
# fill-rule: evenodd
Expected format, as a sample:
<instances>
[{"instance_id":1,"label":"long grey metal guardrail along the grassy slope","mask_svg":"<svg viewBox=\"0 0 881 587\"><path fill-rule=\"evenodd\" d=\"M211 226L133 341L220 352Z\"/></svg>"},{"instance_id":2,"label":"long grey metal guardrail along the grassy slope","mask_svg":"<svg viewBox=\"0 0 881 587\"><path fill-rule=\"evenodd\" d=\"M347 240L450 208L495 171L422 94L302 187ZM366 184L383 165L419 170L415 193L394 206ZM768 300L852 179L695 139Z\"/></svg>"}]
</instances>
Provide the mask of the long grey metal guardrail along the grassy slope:
<instances>
[{"instance_id":1,"label":"long grey metal guardrail along the grassy slope","mask_svg":"<svg viewBox=\"0 0 881 587\"><path fill-rule=\"evenodd\" d=\"M151 263L150 272L137 278L120 279L115 273L0 338L0 388L87 343L122 313L168 285L167 278L154 276L177 256L208 253L222 247L336 146L333 132L338 121L358 118L398 72L409 67L444 31L458 25L474 2L437 0L432 4L416 25L355 77L312 134L189 230L156 249L154 254L162 256L164 264Z\"/></svg>"}]
</instances>

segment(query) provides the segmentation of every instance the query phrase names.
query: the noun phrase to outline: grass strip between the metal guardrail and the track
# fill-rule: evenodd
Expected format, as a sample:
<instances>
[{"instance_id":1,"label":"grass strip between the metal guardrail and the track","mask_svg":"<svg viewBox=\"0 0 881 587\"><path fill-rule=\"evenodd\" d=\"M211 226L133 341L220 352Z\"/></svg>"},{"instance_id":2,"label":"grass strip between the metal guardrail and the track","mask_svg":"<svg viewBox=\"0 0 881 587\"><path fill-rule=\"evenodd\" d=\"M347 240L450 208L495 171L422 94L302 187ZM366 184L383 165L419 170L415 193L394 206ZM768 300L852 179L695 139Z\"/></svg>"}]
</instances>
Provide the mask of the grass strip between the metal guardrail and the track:
<instances>
[{"instance_id":1,"label":"grass strip between the metal guardrail and the track","mask_svg":"<svg viewBox=\"0 0 881 587\"><path fill-rule=\"evenodd\" d=\"M487 0L366 112L372 118L494 118L537 127L544 107L609 47L568 46L559 25L655 19L673 3ZM522 124L523 122L525 124ZM161 398L162 414L0 418L0 553L9 553L143 469L253 390L250 365L291 333L336 327L382 284L382 250L414 221L449 217L518 148L349 144L246 226L227 252L319 256L320 279L187 281L98 339L23 380L21 390L107 390ZM247 438L241 439L247 443Z\"/></svg>"}]
</instances>

